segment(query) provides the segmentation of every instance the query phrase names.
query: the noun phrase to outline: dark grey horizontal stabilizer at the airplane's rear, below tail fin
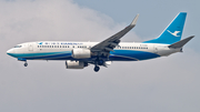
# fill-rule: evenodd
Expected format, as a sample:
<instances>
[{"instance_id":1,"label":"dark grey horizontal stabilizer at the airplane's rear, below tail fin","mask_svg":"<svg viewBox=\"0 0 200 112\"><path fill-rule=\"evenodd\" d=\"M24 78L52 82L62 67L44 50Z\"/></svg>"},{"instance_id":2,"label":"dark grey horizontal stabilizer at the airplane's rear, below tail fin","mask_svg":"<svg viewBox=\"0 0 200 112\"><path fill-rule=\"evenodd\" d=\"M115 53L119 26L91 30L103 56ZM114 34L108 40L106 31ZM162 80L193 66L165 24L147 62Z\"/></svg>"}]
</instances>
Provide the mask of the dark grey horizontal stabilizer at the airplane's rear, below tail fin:
<instances>
[{"instance_id":1,"label":"dark grey horizontal stabilizer at the airplane's rear, below tail fin","mask_svg":"<svg viewBox=\"0 0 200 112\"><path fill-rule=\"evenodd\" d=\"M189 37L189 38L187 38L187 39L183 39L183 40L181 40L181 41L178 41L178 42L169 45L169 48L174 48L174 49L177 49L177 48L182 48L182 47L183 47L188 41L190 41L193 37L194 37L194 35L191 35L191 37Z\"/></svg>"}]
</instances>

